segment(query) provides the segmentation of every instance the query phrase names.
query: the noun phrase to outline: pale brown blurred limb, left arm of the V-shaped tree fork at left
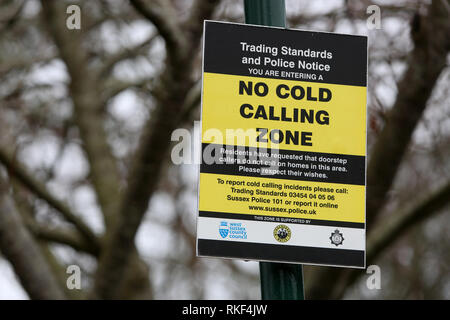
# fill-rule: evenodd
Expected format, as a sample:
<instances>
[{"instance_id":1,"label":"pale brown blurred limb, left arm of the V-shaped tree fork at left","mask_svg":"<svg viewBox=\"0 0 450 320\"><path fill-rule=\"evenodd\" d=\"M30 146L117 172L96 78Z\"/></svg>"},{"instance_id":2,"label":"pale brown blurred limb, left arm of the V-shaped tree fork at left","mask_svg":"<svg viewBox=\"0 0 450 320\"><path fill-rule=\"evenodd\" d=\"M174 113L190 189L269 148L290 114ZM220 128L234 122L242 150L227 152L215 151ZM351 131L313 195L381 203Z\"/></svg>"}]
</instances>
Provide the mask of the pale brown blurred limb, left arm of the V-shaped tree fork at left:
<instances>
[{"instance_id":1,"label":"pale brown blurred limb, left arm of the V-shaped tree fork at left","mask_svg":"<svg viewBox=\"0 0 450 320\"><path fill-rule=\"evenodd\" d=\"M70 75L70 95L75 120L90 165L92 183L102 208L105 223L115 219L120 199L120 176L107 143L103 127L103 101L99 97L97 74L88 69L81 33L69 32L65 26L63 7L58 1L41 1L45 21Z\"/></svg>"}]
</instances>

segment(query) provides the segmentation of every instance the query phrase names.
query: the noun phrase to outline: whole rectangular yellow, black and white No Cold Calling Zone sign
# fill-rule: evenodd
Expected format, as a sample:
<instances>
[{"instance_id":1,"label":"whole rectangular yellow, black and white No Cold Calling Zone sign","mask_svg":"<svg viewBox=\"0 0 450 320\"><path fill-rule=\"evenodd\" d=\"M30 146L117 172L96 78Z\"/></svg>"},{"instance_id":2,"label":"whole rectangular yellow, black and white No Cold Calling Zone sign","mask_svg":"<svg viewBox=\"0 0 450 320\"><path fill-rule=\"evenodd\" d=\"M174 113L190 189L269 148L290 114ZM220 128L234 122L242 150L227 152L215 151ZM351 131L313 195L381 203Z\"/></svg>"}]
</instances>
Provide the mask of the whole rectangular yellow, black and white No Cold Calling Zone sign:
<instances>
[{"instance_id":1,"label":"whole rectangular yellow, black and white No Cold Calling Zone sign","mask_svg":"<svg viewBox=\"0 0 450 320\"><path fill-rule=\"evenodd\" d=\"M363 268L367 37L204 34L197 254Z\"/></svg>"}]
</instances>

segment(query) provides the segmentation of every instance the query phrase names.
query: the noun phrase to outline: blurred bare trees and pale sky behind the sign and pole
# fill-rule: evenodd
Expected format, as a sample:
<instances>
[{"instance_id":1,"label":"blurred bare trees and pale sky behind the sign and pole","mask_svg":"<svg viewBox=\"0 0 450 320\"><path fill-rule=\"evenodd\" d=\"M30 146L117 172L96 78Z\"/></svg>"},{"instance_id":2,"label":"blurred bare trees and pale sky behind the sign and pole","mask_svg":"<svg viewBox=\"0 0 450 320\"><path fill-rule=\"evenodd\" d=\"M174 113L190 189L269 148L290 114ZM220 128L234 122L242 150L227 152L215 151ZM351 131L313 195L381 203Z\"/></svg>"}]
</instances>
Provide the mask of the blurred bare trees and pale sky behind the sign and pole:
<instances>
[{"instance_id":1,"label":"blurred bare trees and pale sky behind the sign and pole","mask_svg":"<svg viewBox=\"0 0 450 320\"><path fill-rule=\"evenodd\" d=\"M81 8L68 30L66 8ZM366 9L381 9L369 30ZM450 299L450 3L286 0L290 28L369 36L368 264L307 298ZM240 0L0 1L0 298L257 299L256 262L197 258L204 19ZM82 271L68 290L68 265Z\"/></svg>"}]
</instances>

